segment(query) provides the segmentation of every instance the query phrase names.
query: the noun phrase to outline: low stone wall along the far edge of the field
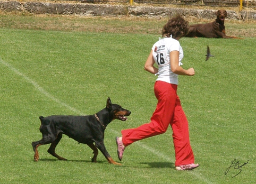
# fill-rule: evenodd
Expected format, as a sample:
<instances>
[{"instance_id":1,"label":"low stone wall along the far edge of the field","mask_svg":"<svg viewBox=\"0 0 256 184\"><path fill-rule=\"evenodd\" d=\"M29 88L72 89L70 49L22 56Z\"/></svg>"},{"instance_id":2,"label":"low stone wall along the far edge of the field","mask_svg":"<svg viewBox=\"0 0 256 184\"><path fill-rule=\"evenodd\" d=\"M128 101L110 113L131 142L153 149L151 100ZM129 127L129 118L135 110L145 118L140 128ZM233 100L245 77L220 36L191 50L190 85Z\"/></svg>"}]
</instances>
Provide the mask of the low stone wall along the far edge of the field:
<instances>
[{"instance_id":1,"label":"low stone wall along the far edge of the field","mask_svg":"<svg viewBox=\"0 0 256 184\"><path fill-rule=\"evenodd\" d=\"M24 11L34 14L63 14L81 16L140 16L140 17L168 17L179 13L183 16L193 16L198 19L215 19L216 10L195 10L186 8L170 7L147 7L147 6L123 6L106 4L72 4L72 3L41 3L41 2L16 2L0 1L1 11ZM256 20L256 12L227 11L227 19Z\"/></svg>"}]
</instances>

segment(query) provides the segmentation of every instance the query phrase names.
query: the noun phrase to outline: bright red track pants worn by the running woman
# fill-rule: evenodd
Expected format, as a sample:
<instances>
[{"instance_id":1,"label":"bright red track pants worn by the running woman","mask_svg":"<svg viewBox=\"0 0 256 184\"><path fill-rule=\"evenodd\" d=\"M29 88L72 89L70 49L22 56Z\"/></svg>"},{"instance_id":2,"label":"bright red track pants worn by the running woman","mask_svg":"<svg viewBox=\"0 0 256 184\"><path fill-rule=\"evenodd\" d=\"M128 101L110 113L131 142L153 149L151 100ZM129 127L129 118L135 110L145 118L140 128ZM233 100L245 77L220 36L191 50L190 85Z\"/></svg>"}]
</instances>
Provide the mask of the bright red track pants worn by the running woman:
<instances>
[{"instance_id":1,"label":"bright red track pants worn by the running woman","mask_svg":"<svg viewBox=\"0 0 256 184\"><path fill-rule=\"evenodd\" d=\"M177 85L156 81L154 91L158 103L151 122L137 128L122 130L123 144L128 146L135 141L165 133L170 124L173 129L175 165L194 163L189 125L177 95Z\"/></svg>"}]
</instances>

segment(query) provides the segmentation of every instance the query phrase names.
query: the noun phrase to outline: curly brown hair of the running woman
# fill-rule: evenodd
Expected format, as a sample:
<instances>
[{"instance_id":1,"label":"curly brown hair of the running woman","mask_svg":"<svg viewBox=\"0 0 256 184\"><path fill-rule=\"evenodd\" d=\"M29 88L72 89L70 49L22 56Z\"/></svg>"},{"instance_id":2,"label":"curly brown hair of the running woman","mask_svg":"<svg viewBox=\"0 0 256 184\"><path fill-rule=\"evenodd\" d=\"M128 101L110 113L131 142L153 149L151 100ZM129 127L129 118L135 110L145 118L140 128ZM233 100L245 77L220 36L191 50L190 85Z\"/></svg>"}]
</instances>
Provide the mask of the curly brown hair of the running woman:
<instances>
[{"instance_id":1,"label":"curly brown hair of the running woman","mask_svg":"<svg viewBox=\"0 0 256 184\"><path fill-rule=\"evenodd\" d=\"M163 27L163 37L182 38L189 32L189 22L184 20L181 15L172 17Z\"/></svg>"}]
</instances>

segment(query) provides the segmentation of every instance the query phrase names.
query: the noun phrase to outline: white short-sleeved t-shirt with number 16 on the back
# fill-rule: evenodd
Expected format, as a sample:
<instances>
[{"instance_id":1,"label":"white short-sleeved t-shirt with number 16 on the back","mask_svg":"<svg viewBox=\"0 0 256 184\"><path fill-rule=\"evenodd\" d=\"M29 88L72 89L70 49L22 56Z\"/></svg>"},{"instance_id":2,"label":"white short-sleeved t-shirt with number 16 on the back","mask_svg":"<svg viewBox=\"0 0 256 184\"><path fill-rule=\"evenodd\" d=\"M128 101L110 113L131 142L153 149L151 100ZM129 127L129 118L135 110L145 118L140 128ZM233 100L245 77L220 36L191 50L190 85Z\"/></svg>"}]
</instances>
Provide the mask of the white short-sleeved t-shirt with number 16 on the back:
<instances>
[{"instance_id":1,"label":"white short-sleeved t-shirt with number 16 on the back","mask_svg":"<svg viewBox=\"0 0 256 184\"><path fill-rule=\"evenodd\" d=\"M165 81L170 84L178 85L178 75L170 69L170 52L178 51L179 65L183 58L183 50L178 40L173 38L159 39L152 47L153 58L158 65L158 78L157 80Z\"/></svg>"}]
</instances>

